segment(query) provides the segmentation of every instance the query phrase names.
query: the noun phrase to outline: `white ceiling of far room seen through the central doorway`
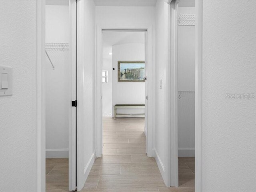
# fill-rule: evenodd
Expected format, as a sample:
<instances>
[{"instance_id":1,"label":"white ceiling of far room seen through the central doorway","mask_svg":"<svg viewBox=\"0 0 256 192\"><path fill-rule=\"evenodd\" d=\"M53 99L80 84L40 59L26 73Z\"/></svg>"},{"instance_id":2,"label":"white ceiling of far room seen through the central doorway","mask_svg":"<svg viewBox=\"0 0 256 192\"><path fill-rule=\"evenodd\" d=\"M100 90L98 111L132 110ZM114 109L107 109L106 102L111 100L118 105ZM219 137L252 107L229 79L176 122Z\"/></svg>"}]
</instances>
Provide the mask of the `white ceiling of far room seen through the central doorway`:
<instances>
[{"instance_id":1,"label":"white ceiling of far room seen through the central doorway","mask_svg":"<svg viewBox=\"0 0 256 192\"><path fill-rule=\"evenodd\" d=\"M115 31L103 31L102 34L102 46L103 46L103 58L111 59L112 46L118 44L127 43L145 43L144 32L115 32Z\"/></svg>"}]
</instances>

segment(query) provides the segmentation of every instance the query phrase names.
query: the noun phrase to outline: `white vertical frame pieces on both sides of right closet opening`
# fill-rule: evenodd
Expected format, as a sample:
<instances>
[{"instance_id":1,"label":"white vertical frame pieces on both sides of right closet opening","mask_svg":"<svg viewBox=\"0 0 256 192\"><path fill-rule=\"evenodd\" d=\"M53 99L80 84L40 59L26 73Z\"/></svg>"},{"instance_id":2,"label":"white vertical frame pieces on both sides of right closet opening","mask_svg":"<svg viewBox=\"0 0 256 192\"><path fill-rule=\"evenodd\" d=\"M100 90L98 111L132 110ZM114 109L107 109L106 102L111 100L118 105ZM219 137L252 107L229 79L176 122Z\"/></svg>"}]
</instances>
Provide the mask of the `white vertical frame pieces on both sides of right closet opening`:
<instances>
[{"instance_id":1,"label":"white vertical frame pieces on both sides of right closet opening","mask_svg":"<svg viewBox=\"0 0 256 192\"><path fill-rule=\"evenodd\" d=\"M180 0L167 0L170 15L168 21L170 34L170 186L178 187L178 3ZM195 191L202 191L202 17L203 1L196 0L195 15Z\"/></svg>"}]
</instances>

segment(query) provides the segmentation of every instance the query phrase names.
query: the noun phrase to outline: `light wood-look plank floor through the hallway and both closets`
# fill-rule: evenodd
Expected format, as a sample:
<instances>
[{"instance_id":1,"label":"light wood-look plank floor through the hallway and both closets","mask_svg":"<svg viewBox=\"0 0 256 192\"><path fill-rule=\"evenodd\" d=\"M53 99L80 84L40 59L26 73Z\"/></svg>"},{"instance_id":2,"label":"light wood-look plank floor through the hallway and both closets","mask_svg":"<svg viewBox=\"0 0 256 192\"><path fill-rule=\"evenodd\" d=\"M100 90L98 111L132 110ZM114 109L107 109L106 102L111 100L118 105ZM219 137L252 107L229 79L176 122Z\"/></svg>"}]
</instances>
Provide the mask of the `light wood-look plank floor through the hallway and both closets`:
<instances>
[{"instance_id":1,"label":"light wood-look plank floor through the hallway and both closets","mask_svg":"<svg viewBox=\"0 0 256 192\"><path fill-rule=\"evenodd\" d=\"M144 118L103 118L103 155L82 192L194 192L194 158L179 158L178 188L167 188L146 156ZM68 191L68 159L46 159L46 192Z\"/></svg>"}]
</instances>

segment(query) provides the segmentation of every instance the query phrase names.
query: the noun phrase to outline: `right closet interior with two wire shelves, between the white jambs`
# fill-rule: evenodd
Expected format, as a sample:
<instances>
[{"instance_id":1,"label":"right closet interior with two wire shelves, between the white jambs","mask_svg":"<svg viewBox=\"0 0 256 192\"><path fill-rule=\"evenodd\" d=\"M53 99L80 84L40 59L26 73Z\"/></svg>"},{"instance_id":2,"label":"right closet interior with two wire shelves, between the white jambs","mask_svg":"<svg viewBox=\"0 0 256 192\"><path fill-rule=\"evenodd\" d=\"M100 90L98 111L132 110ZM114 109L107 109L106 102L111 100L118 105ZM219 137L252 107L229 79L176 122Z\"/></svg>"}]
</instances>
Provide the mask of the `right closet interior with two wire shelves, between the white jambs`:
<instances>
[{"instance_id":1,"label":"right closet interior with two wire shelves, between the white jambs","mask_svg":"<svg viewBox=\"0 0 256 192\"><path fill-rule=\"evenodd\" d=\"M182 2L182 1L181 1ZM192 2L192 1L191 1ZM178 6L178 156L179 186L194 187L195 7Z\"/></svg>"}]
</instances>

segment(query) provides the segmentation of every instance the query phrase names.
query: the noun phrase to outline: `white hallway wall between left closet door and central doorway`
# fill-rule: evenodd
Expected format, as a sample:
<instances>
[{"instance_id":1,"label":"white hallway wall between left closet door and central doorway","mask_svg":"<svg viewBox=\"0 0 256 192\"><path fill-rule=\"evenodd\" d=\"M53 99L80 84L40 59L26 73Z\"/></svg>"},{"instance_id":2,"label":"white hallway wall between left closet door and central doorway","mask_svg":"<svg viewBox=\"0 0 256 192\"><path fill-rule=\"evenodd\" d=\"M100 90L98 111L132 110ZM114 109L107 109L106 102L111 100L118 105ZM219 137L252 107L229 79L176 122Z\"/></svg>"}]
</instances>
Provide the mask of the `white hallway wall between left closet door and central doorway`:
<instances>
[{"instance_id":1,"label":"white hallway wall between left closet door and central doorway","mask_svg":"<svg viewBox=\"0 0 256 192\"><path fill-rule=\"evenodd\" d=\"M94 1L79 1L79 7L84 7L84 11L78 9L79 38L78 46L82 45L83 53L78 58L82 64L83 71L78 71L78 76L83 79L83 103L79 103L78 108L83 108L81 116L82 127L78 140L78 190L84 186L86 178L94 163L95 154L95 5ZM82 34L80 34L82 32ZM81 102L81 100L80 100Z\"/></svg>"}]
</instances>

